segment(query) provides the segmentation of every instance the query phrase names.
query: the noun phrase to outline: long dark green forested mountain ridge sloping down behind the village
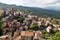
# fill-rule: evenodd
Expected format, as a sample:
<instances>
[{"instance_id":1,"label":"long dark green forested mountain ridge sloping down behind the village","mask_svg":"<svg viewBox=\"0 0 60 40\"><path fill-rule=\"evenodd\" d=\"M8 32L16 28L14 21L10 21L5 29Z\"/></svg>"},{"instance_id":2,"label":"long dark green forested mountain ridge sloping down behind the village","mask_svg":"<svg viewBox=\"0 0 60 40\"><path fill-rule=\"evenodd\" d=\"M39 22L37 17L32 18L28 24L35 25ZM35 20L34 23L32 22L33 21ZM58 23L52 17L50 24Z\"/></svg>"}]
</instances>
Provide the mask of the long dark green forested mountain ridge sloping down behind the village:
<instances>
[{"instance_id":1,"label":"long dark green forested mountain ridge sloping down behind the village","mask_svg":"<svg viewBox=\"0 0 60 40\"><path fill-rule=\"evenodd\" d=\"M14 8L17 10L24 11L25 13L31 13L40 17L54 17L60 18L60 12L55 10L46 10L37 7L25 7L25 6L16 6L0 3L0 9Z\"/></svg>"}]
</instances>

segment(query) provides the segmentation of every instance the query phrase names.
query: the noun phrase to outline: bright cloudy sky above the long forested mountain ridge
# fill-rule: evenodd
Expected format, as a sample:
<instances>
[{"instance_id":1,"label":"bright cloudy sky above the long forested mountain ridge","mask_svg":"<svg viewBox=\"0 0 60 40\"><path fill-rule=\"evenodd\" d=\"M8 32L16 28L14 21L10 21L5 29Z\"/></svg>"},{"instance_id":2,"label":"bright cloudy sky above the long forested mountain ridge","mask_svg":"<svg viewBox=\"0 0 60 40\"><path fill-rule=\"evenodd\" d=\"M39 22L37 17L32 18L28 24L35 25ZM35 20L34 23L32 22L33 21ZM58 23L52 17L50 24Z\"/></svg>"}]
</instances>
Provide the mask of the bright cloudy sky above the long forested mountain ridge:
<instances>
[{"instance_id":1,"label":"bright cloudy sky above the long forested mountain ridge","mask_svg":"<svg viewBox=\"0 0 60 40\"><path fill-rule=\"evenodd\" d=\"M15 4L29 7L45 8L48 6L60 7L60 0L0 0L1 3Z\"/></svg>"}]
</instances>

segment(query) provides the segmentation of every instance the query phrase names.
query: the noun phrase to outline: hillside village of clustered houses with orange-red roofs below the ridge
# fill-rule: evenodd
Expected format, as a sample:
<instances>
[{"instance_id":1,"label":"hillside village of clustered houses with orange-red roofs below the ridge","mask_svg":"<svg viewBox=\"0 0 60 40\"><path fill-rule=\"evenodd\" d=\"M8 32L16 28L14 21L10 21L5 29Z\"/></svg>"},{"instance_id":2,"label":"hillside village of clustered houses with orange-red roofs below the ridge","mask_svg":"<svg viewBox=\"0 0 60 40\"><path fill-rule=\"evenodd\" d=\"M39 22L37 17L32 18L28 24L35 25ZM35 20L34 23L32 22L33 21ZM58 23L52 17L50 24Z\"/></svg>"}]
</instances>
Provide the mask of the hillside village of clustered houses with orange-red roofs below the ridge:
<instances>
[{"instance_id":1,"label":"hillside village of clustered houses with orange-red roofs below the ridge","mask_svg":"<svg viewBox=\"0 0 60 40\"><path fill-rule=\"evenodd\" d=\"M41 40L44 32L60 31L60 20L42 18L22 11L7 8L2 11L2 36L0 40ZM43 39L45 40L45 39Z\"/></svg>"}]
</instances>

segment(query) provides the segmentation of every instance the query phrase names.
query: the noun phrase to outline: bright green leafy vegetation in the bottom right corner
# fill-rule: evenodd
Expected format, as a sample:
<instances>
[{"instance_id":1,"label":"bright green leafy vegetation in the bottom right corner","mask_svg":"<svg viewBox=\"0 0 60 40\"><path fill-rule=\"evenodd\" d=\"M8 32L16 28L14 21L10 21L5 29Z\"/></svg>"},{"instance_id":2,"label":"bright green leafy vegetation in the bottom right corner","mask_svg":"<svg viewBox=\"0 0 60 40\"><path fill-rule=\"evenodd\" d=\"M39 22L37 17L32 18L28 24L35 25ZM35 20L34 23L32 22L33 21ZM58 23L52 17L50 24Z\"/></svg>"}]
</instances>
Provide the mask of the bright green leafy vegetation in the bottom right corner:
<instances>
[{"instance_id":1,"label":"bright green leafy vegetation in the bottom right corner","mask_svg":"<svg viewBox=\"0 0 60 40\"><path fill-rule=\"evenodd\" d=\"M57 30L54 30L53 32L54 32L53 34L43 32L43 35L41 37L48 40L60 40L60 32Z\"/></svg>"}]
</instances>

